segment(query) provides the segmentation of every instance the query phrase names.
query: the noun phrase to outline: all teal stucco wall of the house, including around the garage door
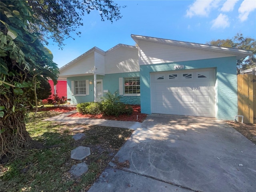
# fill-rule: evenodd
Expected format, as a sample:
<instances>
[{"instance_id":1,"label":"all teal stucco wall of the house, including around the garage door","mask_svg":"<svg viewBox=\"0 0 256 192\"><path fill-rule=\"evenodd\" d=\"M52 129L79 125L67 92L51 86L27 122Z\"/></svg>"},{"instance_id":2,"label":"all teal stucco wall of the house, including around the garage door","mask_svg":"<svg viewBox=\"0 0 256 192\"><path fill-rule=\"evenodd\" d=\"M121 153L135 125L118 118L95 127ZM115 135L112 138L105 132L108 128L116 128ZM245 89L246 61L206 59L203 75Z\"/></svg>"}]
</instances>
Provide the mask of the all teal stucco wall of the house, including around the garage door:
<instances>
[{"instance_id":1,"label":"all teal stucco wall of the house, including around the garage door","mask_svg":"<svg viewBox=\"0 0 256 192\"><path fill-rule=\"evenodd\" d=\"M233 120L238 113L237 107L237 76L236 57L194 60L165 64L152 64L140 66L140 72L97 75L102 79L103 90L114 93L119 90L119 78L140 76L140 96L122 96L121 101L126 104L141 105L141 112L151 114L150 73L175 70L175 65L184 65L184 69L215 68L216 72L216 118ZM89 84L89 95L74 96L71 93L71 81L91 80L94 76L78 76L67 78L67 96L71 104L94 101L94 85Z\"/></svg>"}]
</instances>

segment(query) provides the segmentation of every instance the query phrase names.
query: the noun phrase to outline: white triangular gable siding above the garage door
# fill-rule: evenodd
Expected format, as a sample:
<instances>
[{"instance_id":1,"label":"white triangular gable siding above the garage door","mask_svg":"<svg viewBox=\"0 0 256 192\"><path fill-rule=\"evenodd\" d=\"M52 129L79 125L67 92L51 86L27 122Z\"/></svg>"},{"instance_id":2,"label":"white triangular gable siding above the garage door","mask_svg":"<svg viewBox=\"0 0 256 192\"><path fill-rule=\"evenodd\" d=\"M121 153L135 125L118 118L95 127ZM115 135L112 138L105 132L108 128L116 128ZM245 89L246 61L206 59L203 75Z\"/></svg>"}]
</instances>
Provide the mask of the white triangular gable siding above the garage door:
<instances>
[{"instance_id":1,"label":"white triangular gable siding above the garage door","mask_svg":"<svg viewBox=\"0 0 256 192\"><path fill-rule=\"evenodd\" d=\"M140 65L230 57L213 51L172 46L155 42L140 42Z\"/></svg>"}]
</instances>

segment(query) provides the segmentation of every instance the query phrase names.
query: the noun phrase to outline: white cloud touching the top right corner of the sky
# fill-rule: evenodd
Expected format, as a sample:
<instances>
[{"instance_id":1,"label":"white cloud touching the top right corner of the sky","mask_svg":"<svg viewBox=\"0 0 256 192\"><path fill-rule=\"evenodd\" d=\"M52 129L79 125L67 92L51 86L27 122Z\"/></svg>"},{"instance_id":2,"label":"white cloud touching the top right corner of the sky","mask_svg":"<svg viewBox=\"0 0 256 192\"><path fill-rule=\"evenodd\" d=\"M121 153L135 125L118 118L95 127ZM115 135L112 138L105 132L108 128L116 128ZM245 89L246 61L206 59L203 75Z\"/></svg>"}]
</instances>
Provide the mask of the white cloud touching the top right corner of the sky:
<instances>
[{"instance_id":1,"label":"white cloud touching the top right corner of the sky","mask_svg":"<svg viewBox=\"0 0 256 192\"><path fill-rule=\"evenodd\" d=\"M247 20L250 12L254 11L255 9L256 9L256 1L255 0L244 0L238 9L238 12L239 12L238 18L242 22Z\"/></svg>"}]
</instances>

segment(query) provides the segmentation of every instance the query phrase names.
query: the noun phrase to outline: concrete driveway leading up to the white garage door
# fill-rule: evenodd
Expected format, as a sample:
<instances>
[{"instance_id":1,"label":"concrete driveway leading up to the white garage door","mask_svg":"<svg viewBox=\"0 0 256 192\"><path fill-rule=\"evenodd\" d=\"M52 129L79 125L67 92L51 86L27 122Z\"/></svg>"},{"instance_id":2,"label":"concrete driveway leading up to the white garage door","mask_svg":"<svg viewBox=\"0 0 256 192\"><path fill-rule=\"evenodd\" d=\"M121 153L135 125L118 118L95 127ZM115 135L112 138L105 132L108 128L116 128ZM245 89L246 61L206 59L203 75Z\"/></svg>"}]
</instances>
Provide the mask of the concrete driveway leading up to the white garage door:
<instances>
[{"instance_id":1,"label":"concrete driveway leading up to the white garage door","mask_svg":"<svg viewBox=\"0 0 256 192\"><path fill-rule=\"evenodd\" d=\"M256 190L256 145L213 118L149 115L113 160L89 192Z\"/></svg>"}]
</instances>

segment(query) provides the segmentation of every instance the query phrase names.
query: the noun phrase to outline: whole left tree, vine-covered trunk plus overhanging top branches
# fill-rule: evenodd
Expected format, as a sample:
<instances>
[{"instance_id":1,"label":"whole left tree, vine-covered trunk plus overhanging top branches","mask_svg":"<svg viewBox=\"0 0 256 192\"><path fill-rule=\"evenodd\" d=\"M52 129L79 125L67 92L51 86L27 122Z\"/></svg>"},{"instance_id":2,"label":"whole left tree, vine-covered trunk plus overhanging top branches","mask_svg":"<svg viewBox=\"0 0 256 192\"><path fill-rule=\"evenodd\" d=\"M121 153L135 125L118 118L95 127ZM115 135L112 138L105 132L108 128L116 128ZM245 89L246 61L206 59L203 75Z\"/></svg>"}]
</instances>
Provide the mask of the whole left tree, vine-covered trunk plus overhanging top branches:
<instances>
[{"instance_id":1,"label":"whole left tree, vine-covered trunk plus overhanging top branches","mask_svg":"<svg viewBox=\"0 0 256 192\"><path fill-rule=\"evenodd\" d=\"M119 19L117 6L109 0L0 1L0 156L21 155L34 148L25 126L29 95L40 85L41 78L57 83L58 67L45 46L49 38L62 47L81 20L79 15L100 11L102 19ZM116 10L117 8L117 10ZM78 32L79 33L79 32Z\"/></svg>"}]
</instances>

